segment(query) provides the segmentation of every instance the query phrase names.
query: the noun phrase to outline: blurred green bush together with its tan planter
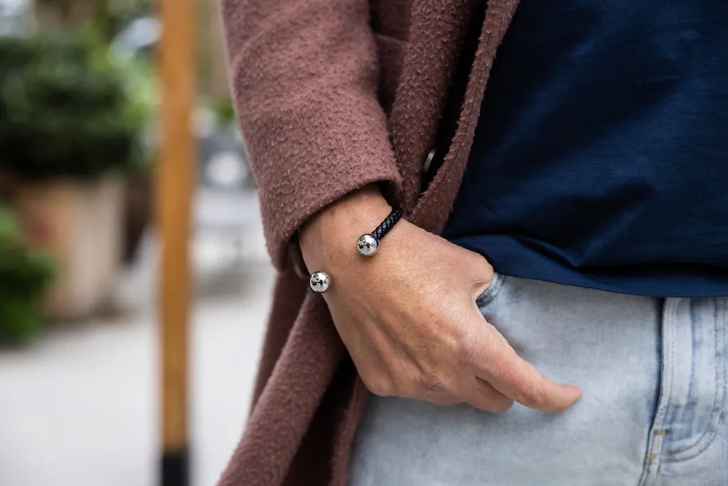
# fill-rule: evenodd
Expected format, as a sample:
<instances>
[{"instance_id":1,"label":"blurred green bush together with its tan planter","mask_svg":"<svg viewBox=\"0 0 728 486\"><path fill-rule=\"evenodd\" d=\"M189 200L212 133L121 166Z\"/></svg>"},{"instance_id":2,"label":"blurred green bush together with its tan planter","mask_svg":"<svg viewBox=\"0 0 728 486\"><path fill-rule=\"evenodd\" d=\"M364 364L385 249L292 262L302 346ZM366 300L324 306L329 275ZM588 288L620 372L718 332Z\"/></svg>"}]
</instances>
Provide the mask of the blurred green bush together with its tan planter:
<instances>
[{"instance_id":1,"label":"blurred green bush together with its tan planter","mask_svg":"<svg viewBox=\"0 0 728 486\"><path fill-rule=\"evenodd\" d=\"M0 182L28 242L58 259L55 318L94 312L123 251L124 173L146 157L148 106L88 30L0 39Z\"/></svg>"}]
</instances>

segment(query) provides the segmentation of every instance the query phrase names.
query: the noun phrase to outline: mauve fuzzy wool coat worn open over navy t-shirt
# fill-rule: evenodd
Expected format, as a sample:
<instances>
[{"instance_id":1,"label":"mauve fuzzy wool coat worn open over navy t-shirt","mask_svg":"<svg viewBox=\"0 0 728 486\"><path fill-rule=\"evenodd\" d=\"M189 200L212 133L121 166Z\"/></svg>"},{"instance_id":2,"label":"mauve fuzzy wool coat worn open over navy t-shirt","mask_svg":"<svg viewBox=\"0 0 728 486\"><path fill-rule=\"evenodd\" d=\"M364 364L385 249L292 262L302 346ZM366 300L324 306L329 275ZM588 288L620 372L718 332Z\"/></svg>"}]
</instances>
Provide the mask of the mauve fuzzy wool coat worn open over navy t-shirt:
<instances>
[{"instance_id":1,"label":"mauve fuzzy wool coat worn open over navy t-shirt","mask_svg":"<svg viewBox=\"0 0 728 486\"><path fill-rule=\"evenodd\" d=\"M324 300L305 290L296 232L373 182L409 221L443 230L518 0L221 1L279 275L253 409L219 484L344 486L368 392Z\"/></svg>"}]
</instances>

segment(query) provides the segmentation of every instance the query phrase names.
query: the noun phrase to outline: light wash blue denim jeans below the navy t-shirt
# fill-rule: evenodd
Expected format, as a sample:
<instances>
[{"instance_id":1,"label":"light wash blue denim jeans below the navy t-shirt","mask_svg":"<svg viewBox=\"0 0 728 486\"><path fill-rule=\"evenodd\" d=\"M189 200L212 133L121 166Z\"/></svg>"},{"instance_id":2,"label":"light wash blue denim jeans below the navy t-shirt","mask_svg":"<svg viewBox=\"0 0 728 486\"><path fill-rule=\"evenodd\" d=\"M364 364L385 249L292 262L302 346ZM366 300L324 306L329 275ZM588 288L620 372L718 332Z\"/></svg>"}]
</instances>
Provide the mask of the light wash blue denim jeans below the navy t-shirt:
<instances>
[{"instance_id":1,"label":"light wash blue denim jeans below the navy t-shirt","mask_svg":"<svg viewBox=\"0 0 728 486\"><path fill-rule=\"evenodd\" d=\"M478 305L582 399L558 414L515 404L496 415L373 397L349 486L728 486L728 298L496 276Z\"/></svg>"}]
</instances>

